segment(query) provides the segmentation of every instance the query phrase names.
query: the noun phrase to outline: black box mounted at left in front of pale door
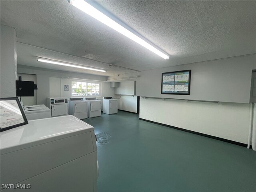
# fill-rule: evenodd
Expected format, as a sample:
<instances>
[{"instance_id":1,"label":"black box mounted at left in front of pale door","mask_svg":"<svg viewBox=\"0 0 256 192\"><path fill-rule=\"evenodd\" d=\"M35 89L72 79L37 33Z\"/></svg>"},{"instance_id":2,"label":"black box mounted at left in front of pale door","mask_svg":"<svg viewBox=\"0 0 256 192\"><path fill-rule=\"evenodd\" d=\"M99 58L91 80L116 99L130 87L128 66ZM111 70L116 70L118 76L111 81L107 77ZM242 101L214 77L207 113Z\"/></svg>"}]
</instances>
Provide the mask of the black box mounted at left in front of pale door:
<instances>
[{"instance_id":1,"label":"black box mounted at left in front of pale door","mask_svg":"<svg viewBox=\"0 0 256 192\"><path fill-rule=\"evenodd\" d=\"M34 96L34 81L16 81L16 96Z\"/></svg>"}]
</instances>

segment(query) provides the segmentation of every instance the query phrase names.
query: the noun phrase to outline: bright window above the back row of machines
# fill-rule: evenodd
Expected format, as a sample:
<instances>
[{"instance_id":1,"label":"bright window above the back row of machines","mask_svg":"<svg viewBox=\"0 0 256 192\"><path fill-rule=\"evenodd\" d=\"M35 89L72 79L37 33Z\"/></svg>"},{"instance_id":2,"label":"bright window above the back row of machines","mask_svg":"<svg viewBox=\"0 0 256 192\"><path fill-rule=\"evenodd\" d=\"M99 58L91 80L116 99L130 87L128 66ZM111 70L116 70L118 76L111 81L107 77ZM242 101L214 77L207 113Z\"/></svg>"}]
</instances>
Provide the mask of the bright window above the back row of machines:
<instances>
[{"instance_id":1,"label":"bright window above the back row of machines","mask_svg":"<svg viewBox=\"0 0 256 192\"><path fill-rule=\"evenodd\" d=\"M72 81L72 96L100 97L100 83Z\"/></svg>"}]
</instances>

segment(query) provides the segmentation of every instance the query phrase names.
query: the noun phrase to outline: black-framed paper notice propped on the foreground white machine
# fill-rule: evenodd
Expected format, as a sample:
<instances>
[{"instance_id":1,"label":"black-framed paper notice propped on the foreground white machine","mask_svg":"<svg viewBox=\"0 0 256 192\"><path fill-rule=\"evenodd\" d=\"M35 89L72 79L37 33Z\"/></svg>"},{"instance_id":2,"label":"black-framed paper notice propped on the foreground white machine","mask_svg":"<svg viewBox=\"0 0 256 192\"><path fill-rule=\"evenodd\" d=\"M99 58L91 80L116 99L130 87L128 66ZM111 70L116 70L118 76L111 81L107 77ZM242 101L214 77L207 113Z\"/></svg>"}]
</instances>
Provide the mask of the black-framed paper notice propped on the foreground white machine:
<instances>
[{"instance_id":1,"label":"black-framed paper notice propped on the foreground white machine","mask_svg":"<svg viewBox=\"0 0 256 192\"><path fill-rule=\"evenodd\" d=\"M28 124L18 97L0 98L0 132Z\"/></svg>"}]
</instances>

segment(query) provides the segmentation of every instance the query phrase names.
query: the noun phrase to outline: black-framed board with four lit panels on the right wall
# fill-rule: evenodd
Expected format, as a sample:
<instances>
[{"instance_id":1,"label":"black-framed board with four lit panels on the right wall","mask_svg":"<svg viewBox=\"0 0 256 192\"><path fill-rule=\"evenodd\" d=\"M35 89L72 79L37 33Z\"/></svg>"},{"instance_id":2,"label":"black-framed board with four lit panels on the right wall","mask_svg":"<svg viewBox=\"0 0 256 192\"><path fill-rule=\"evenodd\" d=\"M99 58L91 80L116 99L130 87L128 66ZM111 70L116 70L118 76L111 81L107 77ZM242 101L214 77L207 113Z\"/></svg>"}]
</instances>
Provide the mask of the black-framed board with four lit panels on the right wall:
<instances>
[{"instance_id":1,"label":"black-framed board with four lit panels on the right wall","mask_svg":"<svg viewBox=\"0 0 256 192\"><path fill-rule=\"evenodd\" d=\"M162 73L161 94L190 95L191 70Z\"/></svg>"}]
</instances>

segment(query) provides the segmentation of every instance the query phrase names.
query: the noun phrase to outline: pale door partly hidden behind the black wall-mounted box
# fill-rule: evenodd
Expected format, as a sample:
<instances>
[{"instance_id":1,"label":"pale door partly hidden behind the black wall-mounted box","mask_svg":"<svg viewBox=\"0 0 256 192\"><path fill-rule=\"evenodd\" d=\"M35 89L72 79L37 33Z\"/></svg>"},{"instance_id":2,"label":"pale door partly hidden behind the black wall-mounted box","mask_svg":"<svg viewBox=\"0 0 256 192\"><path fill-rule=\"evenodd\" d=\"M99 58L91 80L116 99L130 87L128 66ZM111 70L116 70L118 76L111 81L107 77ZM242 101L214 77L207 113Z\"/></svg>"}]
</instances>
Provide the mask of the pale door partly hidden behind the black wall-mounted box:
<instances>
[{"instance_id":1,"label":"pale door partly hidden behind the black wall-mounted box","mask_svg":"<svg viewBox=\"0 0 256 192\"><path fill-rule=\"evenodd\" d=\"M18 73L18 76L21 76L22 81L34 81L36 83L36 75ZM21 97L24 105L36 105L36 90L34 90L34 93L34 97Z\"/></svg>"}]
</instances>

